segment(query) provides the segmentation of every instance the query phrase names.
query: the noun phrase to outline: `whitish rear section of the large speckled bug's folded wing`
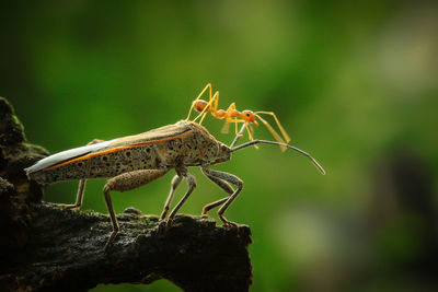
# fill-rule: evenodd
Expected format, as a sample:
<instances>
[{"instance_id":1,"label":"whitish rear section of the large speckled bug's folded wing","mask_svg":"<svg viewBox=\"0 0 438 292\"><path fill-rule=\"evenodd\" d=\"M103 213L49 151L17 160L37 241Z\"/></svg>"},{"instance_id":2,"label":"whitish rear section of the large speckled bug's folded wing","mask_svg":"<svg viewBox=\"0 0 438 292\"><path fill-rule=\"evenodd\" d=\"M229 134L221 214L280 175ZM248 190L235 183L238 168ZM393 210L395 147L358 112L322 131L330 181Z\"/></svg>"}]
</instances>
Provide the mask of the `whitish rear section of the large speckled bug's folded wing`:
<instances>
[{"instance_id":1,"label":"whitish rear section of the large speckled bug's folded wing","mask_svg":"<svg viewBox=\"0 0 438 292\"><path fill-rule=\"evenodd\" d=\"M54 155L47 156L45 159L42 159L31 167L24 168L24 171L30 174L30 173L35 173L37 171L50 167L53 165L56 165L58 163L79 157L95 151L99 151L101 149L104 149L108 147L111 143L113 143L116 139L111 140L111 141L104 141L91 145L84 145L84 147L79 147L79 148L73 148L70 150L66 150L59 153L56 153Z\"/></svg>"}]
</instances>

